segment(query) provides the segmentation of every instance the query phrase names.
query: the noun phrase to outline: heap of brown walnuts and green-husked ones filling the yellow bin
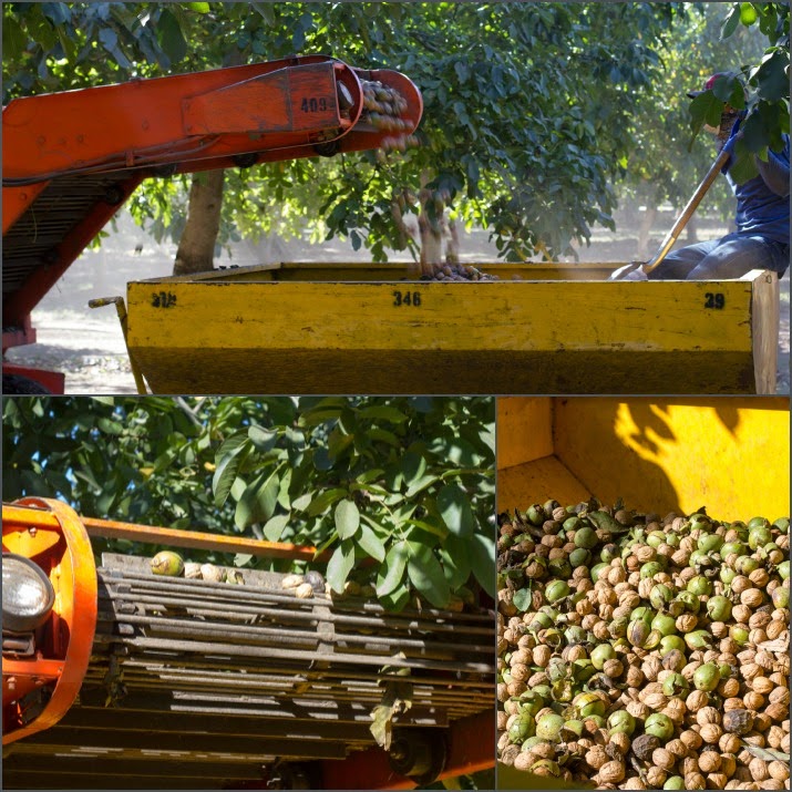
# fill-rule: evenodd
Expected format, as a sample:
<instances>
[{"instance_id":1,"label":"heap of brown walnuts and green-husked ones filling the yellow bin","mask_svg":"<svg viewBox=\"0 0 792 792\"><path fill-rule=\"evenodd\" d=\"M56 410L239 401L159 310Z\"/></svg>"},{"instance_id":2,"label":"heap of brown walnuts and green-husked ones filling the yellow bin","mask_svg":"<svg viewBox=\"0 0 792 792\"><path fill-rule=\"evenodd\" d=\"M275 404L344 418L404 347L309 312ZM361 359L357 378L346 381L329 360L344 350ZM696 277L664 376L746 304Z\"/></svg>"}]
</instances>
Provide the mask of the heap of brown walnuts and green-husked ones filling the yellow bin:
<instances>
[{"instance_id":1,"label":"heap of brown walnuts and green-husked ones filling the yellow bin","mask_svg":"<svg viewBox=\"0 0 792 792\"><path fill-rule=\"evenodd\" d=\"M789 520L498 518L498 758L599 789L783 789Z\"/></svg>"}]
</instances>

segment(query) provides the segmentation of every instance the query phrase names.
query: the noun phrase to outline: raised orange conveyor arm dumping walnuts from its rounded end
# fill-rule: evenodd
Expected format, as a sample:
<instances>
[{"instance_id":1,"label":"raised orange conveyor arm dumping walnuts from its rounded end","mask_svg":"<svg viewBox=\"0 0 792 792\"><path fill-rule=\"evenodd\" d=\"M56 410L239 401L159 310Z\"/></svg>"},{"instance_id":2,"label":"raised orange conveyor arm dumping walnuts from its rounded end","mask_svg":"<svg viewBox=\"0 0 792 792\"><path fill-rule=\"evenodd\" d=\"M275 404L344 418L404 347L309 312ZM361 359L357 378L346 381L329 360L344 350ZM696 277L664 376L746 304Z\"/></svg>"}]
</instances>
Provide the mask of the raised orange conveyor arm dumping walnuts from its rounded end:
<instances>
[{"instance_id":1,"label":"raised orange conveyor arm dumping walnuts from its rounded end","mask_svg":"<svg viewBox=\"0 0 792 792\"><path fill-rule=\"evenodd\" d=\"M404 75L323 55L13 100L2 112L3 350L150 176L331 156L404 138Z\"/></svg>"}]
</instances>

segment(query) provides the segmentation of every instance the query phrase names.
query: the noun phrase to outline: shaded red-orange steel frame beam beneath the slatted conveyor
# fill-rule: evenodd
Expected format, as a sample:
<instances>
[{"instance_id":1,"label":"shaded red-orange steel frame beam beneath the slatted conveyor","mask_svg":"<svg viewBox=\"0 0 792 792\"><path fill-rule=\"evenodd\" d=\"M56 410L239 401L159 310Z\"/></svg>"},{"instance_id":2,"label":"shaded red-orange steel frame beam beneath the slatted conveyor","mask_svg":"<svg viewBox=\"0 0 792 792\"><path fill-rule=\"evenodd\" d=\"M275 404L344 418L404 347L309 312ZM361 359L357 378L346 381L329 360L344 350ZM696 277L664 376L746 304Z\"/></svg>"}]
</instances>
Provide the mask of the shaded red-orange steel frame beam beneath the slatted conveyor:
<instances>
[{"instance_id":1,"label":"shaded red-orange steel frame beam beneath the slatted conveyor","mask_svg":"<svg viewBox=\"0 0 792 792\"><path fill-rule=\"evenodd\" d=\"M453 721L446 739L448 755L439 780L495 767L495 699L492 710ZM356 752L341 762L323 761L322 785L328 790L411 790L416 786L412 779L393 772L381 748Z\"/></svg>"}]
</instances>

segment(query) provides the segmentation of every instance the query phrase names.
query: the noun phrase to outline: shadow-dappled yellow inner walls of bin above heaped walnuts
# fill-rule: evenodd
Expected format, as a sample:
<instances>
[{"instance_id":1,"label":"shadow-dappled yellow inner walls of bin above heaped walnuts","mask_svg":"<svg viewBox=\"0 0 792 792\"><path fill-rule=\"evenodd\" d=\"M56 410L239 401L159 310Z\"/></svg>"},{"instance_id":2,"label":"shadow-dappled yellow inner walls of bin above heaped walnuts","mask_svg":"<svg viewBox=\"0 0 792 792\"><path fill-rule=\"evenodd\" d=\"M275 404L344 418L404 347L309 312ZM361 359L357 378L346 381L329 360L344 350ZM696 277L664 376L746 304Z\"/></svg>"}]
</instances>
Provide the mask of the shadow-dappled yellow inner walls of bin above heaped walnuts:
<instances>
[{"instance_id":1,"label":"shadow-dappled yellow inner walls of bin above heaped walnuts","mask_svg":"<svg viewBox=\"0 0 792 792\"><path fill-rule=\"evenodd\" d=\"M555 398L552 420L554 459L516 469L501 470L517 452L498 426L504 508L549 497L566 505L590 493L607 504L621 497L629 508L664 514L706 506L727 521L790 513L786 399Z\"/></svg>"}]
</instances>

